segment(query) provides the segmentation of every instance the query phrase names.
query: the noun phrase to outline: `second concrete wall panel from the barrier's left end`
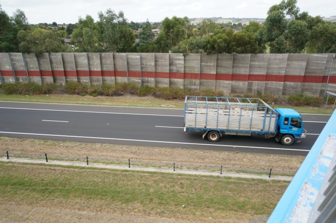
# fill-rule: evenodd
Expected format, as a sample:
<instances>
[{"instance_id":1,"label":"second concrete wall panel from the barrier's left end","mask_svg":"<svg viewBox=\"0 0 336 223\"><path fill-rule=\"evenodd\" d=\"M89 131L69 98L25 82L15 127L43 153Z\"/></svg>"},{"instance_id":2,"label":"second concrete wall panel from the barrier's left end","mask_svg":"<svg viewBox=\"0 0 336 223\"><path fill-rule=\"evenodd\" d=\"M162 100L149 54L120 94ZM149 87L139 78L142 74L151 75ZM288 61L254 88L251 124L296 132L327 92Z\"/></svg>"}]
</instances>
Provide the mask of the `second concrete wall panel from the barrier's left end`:
<instances>
[{"instance_id":1,"label":"second concrete wall panel from the barrier's left end","mask_svg":"<svg viewBox=\"0 0 336 223\"><path fill-rule=\"evenodd\" d=\"M27 83L28 72L21 53L9 53L17 82Z\"/></svg>"}]
</instances>

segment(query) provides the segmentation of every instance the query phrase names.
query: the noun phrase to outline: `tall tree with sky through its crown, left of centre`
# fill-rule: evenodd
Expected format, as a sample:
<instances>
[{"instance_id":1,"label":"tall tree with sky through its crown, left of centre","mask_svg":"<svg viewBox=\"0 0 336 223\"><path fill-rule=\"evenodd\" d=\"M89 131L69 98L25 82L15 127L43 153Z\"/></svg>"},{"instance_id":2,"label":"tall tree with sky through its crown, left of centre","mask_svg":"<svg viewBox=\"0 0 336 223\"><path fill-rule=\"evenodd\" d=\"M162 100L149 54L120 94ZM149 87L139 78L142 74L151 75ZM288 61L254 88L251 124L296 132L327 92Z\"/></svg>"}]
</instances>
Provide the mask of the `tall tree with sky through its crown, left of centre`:
<instances>
[{"instance_id":1,"label":"tall tree with sky through its crown, left of centre","mask_svg":"<svg viewBox=\"0 0 336 223\"><path fill-rule=\"evenodd\" d=\"M98 13L99 25L102 30L102 42L105 50L109 52L134 51L135 35L132 32L124 12L116 14L112 9L107 9L105 14Z\"/></svg>"}]
</instances>

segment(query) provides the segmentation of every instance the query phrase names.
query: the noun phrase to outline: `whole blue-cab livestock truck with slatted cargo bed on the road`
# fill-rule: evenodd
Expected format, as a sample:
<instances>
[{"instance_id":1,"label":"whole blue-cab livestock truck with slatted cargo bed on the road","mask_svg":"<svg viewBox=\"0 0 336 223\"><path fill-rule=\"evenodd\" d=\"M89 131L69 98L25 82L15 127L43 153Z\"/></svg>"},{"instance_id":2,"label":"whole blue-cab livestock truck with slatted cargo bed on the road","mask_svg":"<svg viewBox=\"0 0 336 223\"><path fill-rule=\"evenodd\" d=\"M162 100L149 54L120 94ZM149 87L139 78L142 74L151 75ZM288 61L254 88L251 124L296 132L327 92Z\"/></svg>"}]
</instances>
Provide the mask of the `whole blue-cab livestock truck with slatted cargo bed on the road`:
<instances>
[{"instance_id":1,"label":"whole blue-cab livestock truck with slatted cargo bed on the road","mask_svg":"<svg viewBox=\"0 0 336 223\"><path fill-rule=\"evenodd\" d=\"M217 142L222 135L263 135L282 145L305 138L301 115L293 109L273 109L258 98L186 96L184 131L203 131Z\"/></svg>"}]
</instances>

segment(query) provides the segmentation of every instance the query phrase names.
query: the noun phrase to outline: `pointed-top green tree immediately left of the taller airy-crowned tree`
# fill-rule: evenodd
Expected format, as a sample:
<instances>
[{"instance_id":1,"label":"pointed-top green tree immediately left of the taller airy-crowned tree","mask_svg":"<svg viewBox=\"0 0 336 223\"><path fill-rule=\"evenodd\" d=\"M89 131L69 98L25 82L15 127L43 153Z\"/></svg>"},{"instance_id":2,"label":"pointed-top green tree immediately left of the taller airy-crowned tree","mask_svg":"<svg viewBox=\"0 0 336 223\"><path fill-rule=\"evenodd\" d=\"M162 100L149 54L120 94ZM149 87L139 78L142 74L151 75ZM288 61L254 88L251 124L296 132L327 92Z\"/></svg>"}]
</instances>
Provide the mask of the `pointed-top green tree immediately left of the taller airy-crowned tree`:
<instances>
[{"instance_id":1,"label":"pointed-top green tree immediately left of the taller airy-crowned tree","mask_svg":"<svg viewBox=\"0 0 336 223\"><path fill-rule=\"evenodd\" d=\"M79 18L78 26L72 32L71 44L78 52L100 52L101 44L99 26L90 15Z\"/></svg>"}]
</instances>

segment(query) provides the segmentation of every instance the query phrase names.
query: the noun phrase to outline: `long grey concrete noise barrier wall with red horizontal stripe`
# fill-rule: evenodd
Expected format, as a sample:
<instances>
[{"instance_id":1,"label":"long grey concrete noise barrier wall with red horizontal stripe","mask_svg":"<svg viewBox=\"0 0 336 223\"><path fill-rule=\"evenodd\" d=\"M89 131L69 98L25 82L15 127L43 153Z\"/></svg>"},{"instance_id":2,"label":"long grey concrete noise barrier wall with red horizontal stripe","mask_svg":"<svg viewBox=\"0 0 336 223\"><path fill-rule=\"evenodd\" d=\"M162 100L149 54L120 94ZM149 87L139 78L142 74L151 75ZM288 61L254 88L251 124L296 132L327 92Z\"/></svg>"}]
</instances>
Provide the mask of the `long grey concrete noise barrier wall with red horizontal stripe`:
<instances>
[{"instance_id":1,"label":"long grey concrete noise barrier wall with red horizontal stripe","mask_svg":"<svg viewBox=\"0 0 336 223\"><path fill-rule=\"evenodd\" d=\"M336 92L335 54L0 53L0 84L36 82L212 89L224 94Z\"/></svg>"}]
</instances>

